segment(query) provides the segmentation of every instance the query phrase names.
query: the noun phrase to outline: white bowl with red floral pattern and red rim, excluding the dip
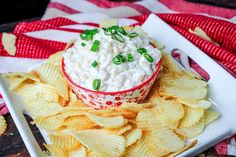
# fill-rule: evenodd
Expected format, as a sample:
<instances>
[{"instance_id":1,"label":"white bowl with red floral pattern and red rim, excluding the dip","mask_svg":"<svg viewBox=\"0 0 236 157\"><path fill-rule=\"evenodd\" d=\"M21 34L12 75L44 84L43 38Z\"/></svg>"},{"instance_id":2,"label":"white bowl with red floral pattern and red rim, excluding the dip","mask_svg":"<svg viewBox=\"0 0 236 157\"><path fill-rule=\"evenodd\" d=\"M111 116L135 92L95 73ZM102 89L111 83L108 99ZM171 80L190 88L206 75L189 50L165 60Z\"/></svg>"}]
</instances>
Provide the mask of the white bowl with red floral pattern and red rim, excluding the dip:
<instances>
[{"instance_id":1,"label":"white bowl with red floral pattern and red rim, excluding the dip","mask_svg":"<svg viewBox=\"0 0 236 157\"><path fill-rule=\"evenodd\" d=\"M70 77L67 75L64 67L64 58L62 58L62 72L68 81L69 85L72 87L73 91L86 105L94 107L96 109L107 108L111 106L120 106L125 102L136 102L141 103L148 92L150 91L156 76L160 70L161 62L157 63L157 68L155 72L150 76L149 79L144 81L142 84L135 86L133 88L118 91L118 92L102 92L86 89L75 84Z\"/></svg>"}]
</instances>

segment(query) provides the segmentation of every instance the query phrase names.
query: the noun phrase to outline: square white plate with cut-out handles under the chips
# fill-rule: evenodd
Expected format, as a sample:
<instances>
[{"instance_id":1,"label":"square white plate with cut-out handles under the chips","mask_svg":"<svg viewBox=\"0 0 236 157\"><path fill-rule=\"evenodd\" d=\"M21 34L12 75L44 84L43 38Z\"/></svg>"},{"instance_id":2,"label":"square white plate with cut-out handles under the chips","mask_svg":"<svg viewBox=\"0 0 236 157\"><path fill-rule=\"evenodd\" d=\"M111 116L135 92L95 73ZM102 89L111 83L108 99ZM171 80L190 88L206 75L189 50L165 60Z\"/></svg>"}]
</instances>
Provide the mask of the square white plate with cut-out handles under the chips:
<instances>
[{"instance_id":1,"label":"square white plate with cut-out handles under the chips","mask_svg":"<svg viewBox=\"0 0 236 157\"><path fill-rule=\"evenodd\" d=\"M195 138L198 140L195 147L179 156L194 156L234 135L236 133L236 79L156 15L151 14L142 28L149 36L164 44L166 52L171 53L173 49L185 52L210 75L209 100L213 103L212 109L220 112L221 117L208 125L205 131ZM0 77L0 93L3 95L30 155L41 157L43 156L42 150L23 116L23 102L19 96L8 90L8 86L9 83ZM49 142L46 135L43 134L43 136L46 142Z\"/></svg>"}]
</instances>

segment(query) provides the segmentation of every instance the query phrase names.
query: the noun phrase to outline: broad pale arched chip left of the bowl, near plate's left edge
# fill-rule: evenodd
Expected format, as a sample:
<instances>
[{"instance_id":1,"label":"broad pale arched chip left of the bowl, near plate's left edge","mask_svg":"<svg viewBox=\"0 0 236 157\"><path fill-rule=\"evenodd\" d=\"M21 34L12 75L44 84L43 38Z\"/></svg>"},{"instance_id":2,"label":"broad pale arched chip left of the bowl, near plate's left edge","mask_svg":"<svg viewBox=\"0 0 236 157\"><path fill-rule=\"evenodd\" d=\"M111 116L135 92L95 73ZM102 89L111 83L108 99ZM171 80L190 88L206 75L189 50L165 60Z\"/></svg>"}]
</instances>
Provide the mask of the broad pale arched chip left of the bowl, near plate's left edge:
<instances>
[{"instance_id":1,"label":"broad pale arched chip left of the bowl, near plate's left edge","mask_svg":"<svg viewBox=\"0 0 236 157\"><path fill-rule=\"evenodd\" d=\"M17 92L24 97L26 102L38 99L58 102L59 98L55 87L42 83L24 85Z\"/></svg>"}]
</instances>

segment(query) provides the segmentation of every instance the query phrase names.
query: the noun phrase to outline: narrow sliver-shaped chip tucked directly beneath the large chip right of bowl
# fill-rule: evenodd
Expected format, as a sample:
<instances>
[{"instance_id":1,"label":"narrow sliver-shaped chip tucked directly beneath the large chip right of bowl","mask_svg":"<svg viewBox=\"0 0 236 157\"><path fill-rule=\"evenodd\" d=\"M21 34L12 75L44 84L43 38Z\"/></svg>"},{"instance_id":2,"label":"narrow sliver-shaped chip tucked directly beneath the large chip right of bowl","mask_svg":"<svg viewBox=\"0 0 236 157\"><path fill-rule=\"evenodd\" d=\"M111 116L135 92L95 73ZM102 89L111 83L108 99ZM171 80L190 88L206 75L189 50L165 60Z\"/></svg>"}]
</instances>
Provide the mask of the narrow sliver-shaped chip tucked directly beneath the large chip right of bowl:
<instances>
[{"instance_id":1,"label":"narrow sliver-shaped chip tucked directly beneath the large chip right of bowl","mask_svg":"<svg viewBox=\"0 0 236 157\"><path fill-rule=\"evenodd\" d=\"M177 98L177 101L192 108L208 109L211 107L211 102L207 100Z\"/></svg>"}]
</instances>

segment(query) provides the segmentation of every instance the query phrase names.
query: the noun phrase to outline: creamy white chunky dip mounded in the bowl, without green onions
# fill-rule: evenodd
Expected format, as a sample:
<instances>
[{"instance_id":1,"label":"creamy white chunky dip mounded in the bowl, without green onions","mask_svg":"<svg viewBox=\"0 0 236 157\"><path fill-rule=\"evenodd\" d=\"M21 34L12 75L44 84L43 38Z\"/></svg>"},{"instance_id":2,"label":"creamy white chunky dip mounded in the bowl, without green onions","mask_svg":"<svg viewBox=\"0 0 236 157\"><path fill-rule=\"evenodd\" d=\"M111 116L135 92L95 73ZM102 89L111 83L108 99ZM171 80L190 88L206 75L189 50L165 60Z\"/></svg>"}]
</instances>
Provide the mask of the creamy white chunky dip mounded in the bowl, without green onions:
<instances>
[{"instance_id":1,"label":"creamy white chunky dip mounded in the bowl, without green onions","mask_svg":"<svg viewBox=\"0 0 236 157\"><path fill-rule=\"evenodd\" d=\"M138 36L130 38L122 35L124 42L112 39L111 35L104 34L103 29L93 36L93 40L82 40L80 37L74 46L63 55L65 71L70 79L77 85L94 90L93 81L101 80L99 91L115 92L130 89L146 81L156 70L156 64L161 58L161 52L149 43L148 36L140 29L127 31L137 32ZM96 52L91 51L95 40L100 41ZM84 45L84 44L86 45ZM153 58L149 62L137 49L145 48ZM112 59L118 54L127 58L133 56L133 61L116 65ZM96 61L97 66L92 66Z\"/></svg>"}]
</instances>

